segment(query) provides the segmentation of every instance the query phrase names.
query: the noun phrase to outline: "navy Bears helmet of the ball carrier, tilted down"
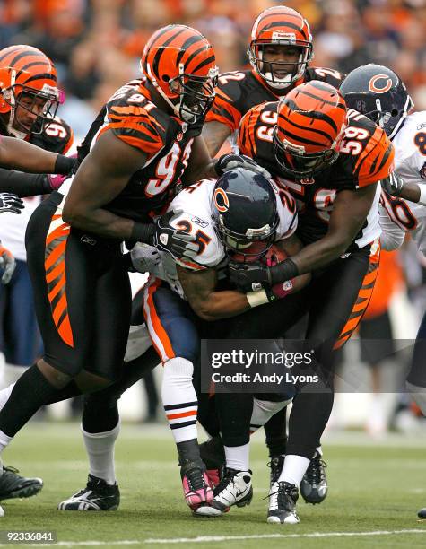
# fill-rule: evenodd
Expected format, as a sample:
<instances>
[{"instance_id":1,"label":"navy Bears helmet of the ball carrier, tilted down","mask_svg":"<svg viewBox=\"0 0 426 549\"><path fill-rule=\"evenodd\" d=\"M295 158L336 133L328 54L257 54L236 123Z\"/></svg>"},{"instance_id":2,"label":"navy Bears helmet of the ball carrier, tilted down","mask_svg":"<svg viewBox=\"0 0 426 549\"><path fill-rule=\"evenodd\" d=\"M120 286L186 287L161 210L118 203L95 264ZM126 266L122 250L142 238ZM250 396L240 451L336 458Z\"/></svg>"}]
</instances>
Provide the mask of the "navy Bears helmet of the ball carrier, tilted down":
<instances>
[{"instance_id":1,"label":"navy Bears helmet of the ball carrier, tilted down","mask_svg":"<svg viewBox=\"0 0 426 549\"><path fill-rule=\"evenodd\" d=\"M280 223L272 183L254 171L236 168L216 181L212 196L215 231L223 246L245 257L263 257ZM253 243L262 242L264 246Z\"/></svg>"}]
</instances>

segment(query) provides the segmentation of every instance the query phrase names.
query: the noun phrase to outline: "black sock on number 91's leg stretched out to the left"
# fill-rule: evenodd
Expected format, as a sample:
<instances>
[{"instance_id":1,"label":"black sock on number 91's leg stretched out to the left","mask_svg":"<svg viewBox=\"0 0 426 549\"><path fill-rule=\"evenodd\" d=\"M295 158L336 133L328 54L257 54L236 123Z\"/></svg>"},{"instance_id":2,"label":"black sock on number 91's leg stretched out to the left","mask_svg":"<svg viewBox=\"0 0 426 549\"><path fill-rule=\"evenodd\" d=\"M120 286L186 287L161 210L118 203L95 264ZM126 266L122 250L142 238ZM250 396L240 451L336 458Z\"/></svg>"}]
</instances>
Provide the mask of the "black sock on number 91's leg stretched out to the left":
<instances>
[{"instance_id":1,"label":"black sock on number 91's leg stretched out to the left","mask_svg":"<svg viewBox=\"0 0 426 549\"><path fill-rule=\"evenodd\" d=\"M71 389L70 391L68 386L64 389L55 388L44 377L37 365L33 364L16 381L11 396L0 411L0 431L9 437L14 437L41 406L81 394L76 386Z\"/></svg>"}]
</instances>

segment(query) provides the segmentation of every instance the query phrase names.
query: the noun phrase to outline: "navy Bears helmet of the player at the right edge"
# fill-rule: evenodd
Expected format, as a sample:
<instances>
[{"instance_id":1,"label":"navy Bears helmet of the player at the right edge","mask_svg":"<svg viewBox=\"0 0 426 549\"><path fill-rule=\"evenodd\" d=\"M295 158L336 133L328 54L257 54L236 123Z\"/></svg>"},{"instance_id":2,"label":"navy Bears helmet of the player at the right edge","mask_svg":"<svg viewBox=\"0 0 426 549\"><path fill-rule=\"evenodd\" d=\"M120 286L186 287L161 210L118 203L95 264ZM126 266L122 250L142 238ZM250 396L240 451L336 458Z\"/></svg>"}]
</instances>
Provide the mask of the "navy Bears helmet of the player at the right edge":
<instances>
[{"instance_id":1,"label":"navy Bears helmet of the player at the right edge","mask_svg":"<svg viewBox=\"0 0 426 549\"><path fill-rule=\"evenodd\" d=\"M361 65L340 86L349 109L355 109L382 127L392 139L413 108L404 82L384 65Z\"/></svg>"}]
</instances>

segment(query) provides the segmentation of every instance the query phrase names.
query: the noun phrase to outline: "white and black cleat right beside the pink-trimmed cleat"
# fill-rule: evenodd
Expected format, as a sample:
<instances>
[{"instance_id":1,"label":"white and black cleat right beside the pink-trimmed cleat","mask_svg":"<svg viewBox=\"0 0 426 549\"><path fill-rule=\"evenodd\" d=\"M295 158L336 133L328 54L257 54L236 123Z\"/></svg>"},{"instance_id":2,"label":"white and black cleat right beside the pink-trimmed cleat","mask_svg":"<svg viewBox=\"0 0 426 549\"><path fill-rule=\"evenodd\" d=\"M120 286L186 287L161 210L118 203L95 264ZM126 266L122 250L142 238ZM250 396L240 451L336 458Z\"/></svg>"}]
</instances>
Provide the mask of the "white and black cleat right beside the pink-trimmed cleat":
<instances>
[{"instance_id":1,"label":"white and black cleat right beside the pink-trimmed cleat","mask_svg":"<svg viewBox=\"0 0 426 549\"><path fill-rule=\"evenodd\" d=\"M251 471L226 469L221 482L214 488L213 501L194 511L197 517L219 517L230 510L232 505L245 507L253 498Z\"/></svg>"}]
</instances>

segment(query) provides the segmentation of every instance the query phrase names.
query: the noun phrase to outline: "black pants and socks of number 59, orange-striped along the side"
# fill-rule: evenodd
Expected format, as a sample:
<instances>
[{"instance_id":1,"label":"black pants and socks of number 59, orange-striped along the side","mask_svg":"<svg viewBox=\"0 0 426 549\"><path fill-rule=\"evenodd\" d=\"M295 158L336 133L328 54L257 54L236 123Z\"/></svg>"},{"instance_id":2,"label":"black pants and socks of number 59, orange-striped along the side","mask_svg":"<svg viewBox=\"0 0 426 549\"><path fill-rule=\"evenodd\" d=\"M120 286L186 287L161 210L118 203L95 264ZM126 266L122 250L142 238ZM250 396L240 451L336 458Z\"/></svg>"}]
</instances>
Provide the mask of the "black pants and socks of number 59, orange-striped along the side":
<instances>
[{"instance_id":1,"label":"black pants and socks of number 59, orange-striped along the side","mask_svg":"<svg viewBox=\"0 0 426 549\"><path fill-rule=\"evenodd\" d=\"M300 292L251 309L230 318L226 326L222 325L222 336L227 338L275 339L283 337L293 324L308 314L305 337L309 344L300 342L300 345L304 345L304 350L313 347L320 381L297 386L287 454L310 459L320 443L333 407L333 353L351 337L369 304L378 261L377 241L315 273L309 286ZM239 446L248 441L250 398L249 395L215 396L226 446Z\"/></svg>"}]
</instances>

